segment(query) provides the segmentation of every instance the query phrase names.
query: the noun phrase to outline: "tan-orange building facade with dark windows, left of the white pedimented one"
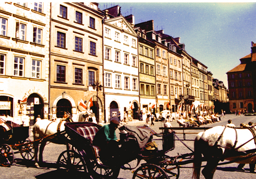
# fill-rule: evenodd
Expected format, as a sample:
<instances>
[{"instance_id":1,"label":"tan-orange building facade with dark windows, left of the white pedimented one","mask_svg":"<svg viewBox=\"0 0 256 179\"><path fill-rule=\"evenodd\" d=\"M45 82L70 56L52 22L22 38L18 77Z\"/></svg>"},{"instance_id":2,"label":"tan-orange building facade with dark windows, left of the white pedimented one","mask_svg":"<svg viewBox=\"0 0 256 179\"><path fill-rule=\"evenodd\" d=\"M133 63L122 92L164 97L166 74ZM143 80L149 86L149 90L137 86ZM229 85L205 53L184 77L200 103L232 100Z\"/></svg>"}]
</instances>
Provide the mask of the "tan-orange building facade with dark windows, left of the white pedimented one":
<instances>
[{"instance_id":1,"label":"tan-orange building facade with dark windows, left of the white pedimented one","mask_svg":"<svg viewBox=\"0 0 256 179\"><path fill-rule=\"evenodd\" d=\"M84 110L84 101L97 122L104 119L102 19L97 3L51 3L50 38L50 113L62 118L69 112L74 118ZM92 99L92 100L91 100ZM93 103L93 104L92 104Z\"/></svg>"}]
</instances>

